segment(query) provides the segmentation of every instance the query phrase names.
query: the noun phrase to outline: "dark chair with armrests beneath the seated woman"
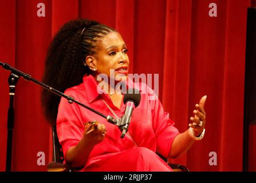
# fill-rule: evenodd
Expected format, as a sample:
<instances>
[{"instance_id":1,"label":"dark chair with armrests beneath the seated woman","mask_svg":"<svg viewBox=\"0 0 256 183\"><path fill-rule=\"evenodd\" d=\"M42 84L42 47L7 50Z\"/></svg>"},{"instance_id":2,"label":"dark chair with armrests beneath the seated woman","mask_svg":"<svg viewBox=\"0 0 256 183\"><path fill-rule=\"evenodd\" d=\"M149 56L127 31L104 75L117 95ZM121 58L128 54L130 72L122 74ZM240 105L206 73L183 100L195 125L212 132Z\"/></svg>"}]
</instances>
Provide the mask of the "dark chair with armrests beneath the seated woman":
<instances>
[{"instance_id":1,"label":"dark chair with armrests beneath the seated woman","mask_svg":"<svg viewBox=\"0 0 256 183\"><path fill-rule=\"evenodd\" d=\"M64 154L60 142L58 141L56 125L52 126L52 136L53 136L53 161L47 165L48 172L72 172L73 170L68 166L68 164L63 163ZM160 158L167 162L167 159L156 153ZM190 172L186 166L179 164L167 164L175 172Z\"/></svg>"}]
</instances>

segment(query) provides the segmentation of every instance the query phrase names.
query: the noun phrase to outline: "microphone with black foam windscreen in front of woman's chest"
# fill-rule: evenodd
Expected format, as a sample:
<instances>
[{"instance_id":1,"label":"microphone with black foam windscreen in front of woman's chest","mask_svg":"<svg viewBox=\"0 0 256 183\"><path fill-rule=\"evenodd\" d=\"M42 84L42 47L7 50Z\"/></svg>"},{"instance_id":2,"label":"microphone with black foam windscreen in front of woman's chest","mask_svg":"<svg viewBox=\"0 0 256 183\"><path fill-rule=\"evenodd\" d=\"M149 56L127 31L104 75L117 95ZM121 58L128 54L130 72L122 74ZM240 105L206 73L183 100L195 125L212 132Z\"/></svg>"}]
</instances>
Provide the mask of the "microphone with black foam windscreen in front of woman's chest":
<instances>
[{"instance_id":1,"label":"microphone with black foam windscreen in front of woman's chest","mask_svg":"<svg viewBox=\"0 0 256 183\"><path fill-rule=\"evenodd\" d=\"M140 104L140 92L137 89L131 88L128 89L127 93L124 94L124 104L125 104L125 112L124 116L120 120L120 130L122 132L121 138L124 138L125 133L127 133L129 124L132 118L133 109L136 108Z\"/></svg>"}]
</instances>

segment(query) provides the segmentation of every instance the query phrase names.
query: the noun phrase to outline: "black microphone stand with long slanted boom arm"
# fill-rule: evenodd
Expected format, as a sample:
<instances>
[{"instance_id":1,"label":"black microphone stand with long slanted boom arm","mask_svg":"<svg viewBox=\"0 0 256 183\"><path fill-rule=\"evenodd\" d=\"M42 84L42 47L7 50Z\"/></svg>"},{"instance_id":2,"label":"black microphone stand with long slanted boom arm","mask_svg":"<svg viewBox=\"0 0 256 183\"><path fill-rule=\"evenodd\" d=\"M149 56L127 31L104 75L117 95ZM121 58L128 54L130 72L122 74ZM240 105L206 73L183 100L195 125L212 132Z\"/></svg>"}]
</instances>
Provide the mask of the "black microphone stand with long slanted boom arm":
<instances>
[{"instance_id":1,"label":"black microphone stand with long slanted boom arm","mask_svg":"<svg viewBox=\"0 0 256 183\"><path fill-rule=\"evenodd\" d=\"M22 71L15 69L14 67L11 67L8 63L2 63L0 62L0 65L3 67L3 69L9 70L11 71L10 77L8 79L9 82L9 94L10 94L10 107L8 110L8 120L7 120L7 153L6 153L6 172L10 172L11 171L11 159L12 159L12 144L13 144L13 126L14 126L14 92L15 92L15 85L18 82L19 77L22 77L24 79L26 79L27 81L33 81L34 83L37 83L37 85L40 85L42 87L44 87L44 89L49 90L50 92L57 94L60 97L64 97L66 98L66 100L68 100L69 104L72 104L73 102L75 102L78 105L83 106L84 108L92 111L93 113L98 114L99 116L107 119L108 122L110 122L111 124L117 125L119 126L119 121L117 121L115 118L111 117L111 116L105 116L104 114L97 112L97 110L94 110L92 108L89 108L89 106L86 106L84 104L82 104L81 102L78 102L76 100L74 100L73 97L68 96L64 93L61 93L60 91L54 89L53 87L50 87L48 85L46 85L45 83L42 83L40 81L37 81L37 79L34 79L31 77L31 75L23 73Z\"/></svg>"}]
</instances>

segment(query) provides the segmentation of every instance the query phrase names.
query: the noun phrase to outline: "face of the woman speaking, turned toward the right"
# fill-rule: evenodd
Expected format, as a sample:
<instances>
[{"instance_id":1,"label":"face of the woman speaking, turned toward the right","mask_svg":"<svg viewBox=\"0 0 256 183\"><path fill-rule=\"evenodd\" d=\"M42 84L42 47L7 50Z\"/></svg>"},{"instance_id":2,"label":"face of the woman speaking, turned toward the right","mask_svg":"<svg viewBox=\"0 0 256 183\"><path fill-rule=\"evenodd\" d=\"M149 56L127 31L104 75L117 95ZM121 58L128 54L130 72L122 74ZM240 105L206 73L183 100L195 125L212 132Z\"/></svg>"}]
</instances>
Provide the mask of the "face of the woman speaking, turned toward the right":
<instances>
[{"instance_id":1,"label":"face of the woman speaking, turned toward the right","mask_svg":"<svg viewBox=\"0 0 256 183\"><path fill-rule=\"evenodd\" d=\"M121 78L122 81L127 79L129 69L127 51L123 38L117 32L111 32L100 38L95 54L97 74L107 74L108 78L113 78L115 74L115 78Z\"/></svg>"}]
</instances>

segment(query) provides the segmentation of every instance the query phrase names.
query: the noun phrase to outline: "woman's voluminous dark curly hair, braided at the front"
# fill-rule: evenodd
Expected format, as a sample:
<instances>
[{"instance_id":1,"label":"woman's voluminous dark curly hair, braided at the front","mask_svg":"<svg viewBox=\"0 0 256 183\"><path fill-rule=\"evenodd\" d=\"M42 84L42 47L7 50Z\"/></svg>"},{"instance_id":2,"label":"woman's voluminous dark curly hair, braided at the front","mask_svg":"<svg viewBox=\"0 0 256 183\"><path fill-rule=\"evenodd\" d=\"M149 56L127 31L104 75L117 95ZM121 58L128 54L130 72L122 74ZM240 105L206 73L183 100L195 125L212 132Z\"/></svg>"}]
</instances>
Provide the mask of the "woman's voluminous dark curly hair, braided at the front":
<instances>
[{"instance_id":1,"label":"woman's voluminous dark curly hair, braided at the front","mask_svg":"<svg viewBox=\"0 0 256 183\"><path fill-rule=\"evenodd\" d=\"M62 93L81 83L84 74L92 74L84 65L86 56L95 54L97 40L112 31L116 30L89 19L78 18L65 23L48 48L42 82ZM60 99L46 89L42 91L41 104L50 124L56 124Z\"/></svg>"}]
</instances>

